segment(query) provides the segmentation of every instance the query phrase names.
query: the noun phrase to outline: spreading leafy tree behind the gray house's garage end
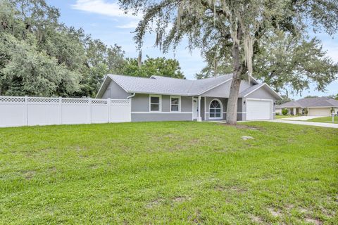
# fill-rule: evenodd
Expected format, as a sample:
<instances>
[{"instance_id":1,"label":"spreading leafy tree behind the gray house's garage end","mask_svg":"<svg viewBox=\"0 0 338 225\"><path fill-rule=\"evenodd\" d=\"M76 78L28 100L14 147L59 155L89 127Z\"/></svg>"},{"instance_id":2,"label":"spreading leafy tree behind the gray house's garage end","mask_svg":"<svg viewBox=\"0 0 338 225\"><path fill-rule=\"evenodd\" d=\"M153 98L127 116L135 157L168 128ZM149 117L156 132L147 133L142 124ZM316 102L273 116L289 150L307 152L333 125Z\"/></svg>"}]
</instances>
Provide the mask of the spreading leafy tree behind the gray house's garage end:
<instances>
[{"instance_id":1,"label":"spreading leafy tree behind the gray house's garage end","mask_svg":"<svg viewBox=\"0 0 338 225\"><path fill-rule=\"evenodd\" d=\"M326 56L318 39L307 40L279 32L268 35L261 42L263 44L255 49L253 77L277 92L299 94L308 89L310 83L316 84L318 91L325 91L327 84L337 79L338 64ZM229 73L232 67L223 60L215 73L214 66L209 64L196 75L197 79Z\"/></svg>"}]
</instances>

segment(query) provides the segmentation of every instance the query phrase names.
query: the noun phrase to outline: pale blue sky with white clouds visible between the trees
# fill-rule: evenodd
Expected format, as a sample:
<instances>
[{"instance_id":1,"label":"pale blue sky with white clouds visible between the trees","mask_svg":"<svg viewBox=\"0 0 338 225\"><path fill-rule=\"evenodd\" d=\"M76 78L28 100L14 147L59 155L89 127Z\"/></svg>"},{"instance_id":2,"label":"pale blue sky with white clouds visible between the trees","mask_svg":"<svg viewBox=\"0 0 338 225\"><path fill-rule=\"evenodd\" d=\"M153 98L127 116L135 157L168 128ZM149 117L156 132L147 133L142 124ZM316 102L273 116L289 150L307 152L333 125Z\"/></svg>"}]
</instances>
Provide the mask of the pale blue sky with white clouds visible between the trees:
<instances>
[{"instance_id":1,"label":"pale blue sky with white clouds visible between the trees","mask_svg":"<svg viewBox=\"0 0 338 225\"><path fill-rule=\"evenodd\" d=\"M86 34L92 34L95 39L101 39L107 45L118 44L122 46L127 57L138 56L136 44L133 40L133 30L139 18L133 15L126 15L120 11L117 1L109 0L46 0L52 6L61 11L61 22L65 25L84 29ZM327 54L338 62L338 36L328 37L326 34L317 35L323 41L323 48ZM163 56L161 51L154 47L155 37L152 34L146 36L142 55L150 57ZM196 72L199 72L206 63L200 56L198 50L189 52L187 43L182 42L175 53L164 55L166 58L176 58L180 62L182 72L187 79L194 79ZM311 89L303 91L302 96L317 95L327 96L338 93L338 80L327 86L326 92L314 91ZM301 96L292 96L301 98Z\"/></svg>"}]
</instances>

